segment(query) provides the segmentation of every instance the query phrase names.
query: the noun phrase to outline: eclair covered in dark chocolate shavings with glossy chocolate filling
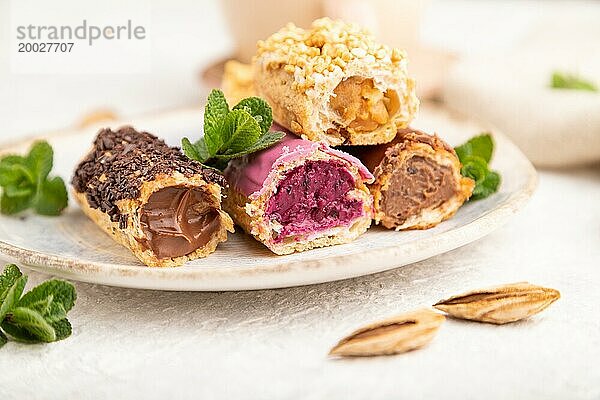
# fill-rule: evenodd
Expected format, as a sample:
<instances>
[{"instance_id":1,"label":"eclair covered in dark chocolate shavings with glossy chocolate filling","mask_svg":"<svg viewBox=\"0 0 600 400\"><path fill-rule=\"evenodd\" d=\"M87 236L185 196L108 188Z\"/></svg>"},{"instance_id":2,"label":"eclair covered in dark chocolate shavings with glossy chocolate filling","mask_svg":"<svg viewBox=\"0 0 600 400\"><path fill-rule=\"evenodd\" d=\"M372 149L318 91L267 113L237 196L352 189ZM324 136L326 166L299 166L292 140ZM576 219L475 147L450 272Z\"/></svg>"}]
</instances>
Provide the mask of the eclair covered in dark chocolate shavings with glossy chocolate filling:
<instances>
[{"instance_id":1,"label":"eclair covered in dark chocolate shavings with glossy chocolate filling","mask_svg":"<svg viewBox=\"0 0 600 400\"><path fill-rule=\"evenodd\" d=\"M150 267L205 257L233 232L223 176L131 127L102 129L71 183L83 212Z\"/></svg>"}]
</instances>

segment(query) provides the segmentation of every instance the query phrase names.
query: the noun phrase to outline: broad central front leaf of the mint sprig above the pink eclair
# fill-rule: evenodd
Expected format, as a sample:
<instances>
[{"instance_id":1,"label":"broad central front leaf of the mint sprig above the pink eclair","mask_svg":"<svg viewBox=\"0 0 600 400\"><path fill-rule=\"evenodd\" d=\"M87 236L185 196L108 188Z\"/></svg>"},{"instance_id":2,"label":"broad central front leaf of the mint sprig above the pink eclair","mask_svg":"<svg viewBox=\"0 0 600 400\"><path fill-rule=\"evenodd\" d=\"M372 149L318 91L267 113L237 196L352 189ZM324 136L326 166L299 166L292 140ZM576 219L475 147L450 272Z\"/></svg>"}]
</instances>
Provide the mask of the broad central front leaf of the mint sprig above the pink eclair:
<instances>
[{"instance_id":1,"label":"broad central front leaf of the mint sprig above the pink eclair","mask_svg":"<svg viewBox=\"0 0 600 400\"><path fill-rule=\"evenodd\" d=\"M223 146L219 154L233 154L244 151L254 144L261 135L258 122L244 110L231 111L223 124Z\"/></svg>"}]
</instances>

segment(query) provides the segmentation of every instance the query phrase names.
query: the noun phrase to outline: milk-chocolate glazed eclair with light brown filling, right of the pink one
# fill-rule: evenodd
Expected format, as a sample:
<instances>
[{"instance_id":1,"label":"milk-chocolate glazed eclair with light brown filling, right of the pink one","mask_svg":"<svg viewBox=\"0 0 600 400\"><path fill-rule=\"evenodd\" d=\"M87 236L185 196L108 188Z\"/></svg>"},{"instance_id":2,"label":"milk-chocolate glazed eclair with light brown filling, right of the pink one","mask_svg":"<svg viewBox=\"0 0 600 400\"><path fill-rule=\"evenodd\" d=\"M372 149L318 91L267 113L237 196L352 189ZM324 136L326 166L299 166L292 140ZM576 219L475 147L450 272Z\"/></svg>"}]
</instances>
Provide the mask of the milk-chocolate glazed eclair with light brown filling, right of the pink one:
<instances>
[{"instance_id":1,"label":"milk-chocolate glazed eclair with light brown filling, right of the pink one","mask_svg":"<svg viewBox=\"0 0 600 400\"><path fill-rule=\"evenodd\" d=\"M473 192L454 149L435 135L401 129L390 143L346 150L373 172L375 222L388 229L431 228L452 217Z\"/></svg>"}]
</instances>

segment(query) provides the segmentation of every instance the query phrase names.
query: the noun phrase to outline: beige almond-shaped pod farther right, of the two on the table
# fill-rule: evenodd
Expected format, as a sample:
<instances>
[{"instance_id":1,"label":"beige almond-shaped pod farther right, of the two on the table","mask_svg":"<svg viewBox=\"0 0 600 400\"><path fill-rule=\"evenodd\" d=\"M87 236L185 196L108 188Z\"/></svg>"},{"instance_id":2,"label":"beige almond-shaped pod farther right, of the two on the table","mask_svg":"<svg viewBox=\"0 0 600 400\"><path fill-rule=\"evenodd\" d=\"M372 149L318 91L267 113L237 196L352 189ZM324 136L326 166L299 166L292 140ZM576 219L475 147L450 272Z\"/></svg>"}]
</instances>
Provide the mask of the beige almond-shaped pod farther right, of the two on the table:
<instances>
[{"instance_id":1,"label":"beige almond-shaped pod farther right, of the two on the table","mask_svg":"<svg viewBox=\"0 0 600 400\"><path fill-rule=\"evenodd\" d=\"M556 289L519 282L453 296L434 307L455 318L506 324L537 314L559 298Z\"/></svg>"}]
</instances>

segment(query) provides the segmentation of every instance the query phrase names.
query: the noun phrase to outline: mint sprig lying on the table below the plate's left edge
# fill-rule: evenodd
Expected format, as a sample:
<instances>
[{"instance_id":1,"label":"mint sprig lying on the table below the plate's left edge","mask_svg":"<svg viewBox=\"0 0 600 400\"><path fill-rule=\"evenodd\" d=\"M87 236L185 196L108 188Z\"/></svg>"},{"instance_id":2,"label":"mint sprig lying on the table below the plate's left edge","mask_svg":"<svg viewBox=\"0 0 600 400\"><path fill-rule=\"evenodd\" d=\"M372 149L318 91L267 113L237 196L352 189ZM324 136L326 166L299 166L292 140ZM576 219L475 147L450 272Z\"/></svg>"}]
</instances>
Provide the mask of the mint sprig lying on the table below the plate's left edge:
<instances>
[{"instance_id":1,"label":"mint sprig lying on the table below the plate's left edge","mask_svg":"<svg viewBox=\"0 0 600 400\"><path fill-rule=\"evenodd\" d=\"M55 342L71 335L67 313L77 294L69 282L52 279L25 295L27 276L14 264L0 275L0 348L12 338L19 342Z\"/></svg>"}]
</instances>

